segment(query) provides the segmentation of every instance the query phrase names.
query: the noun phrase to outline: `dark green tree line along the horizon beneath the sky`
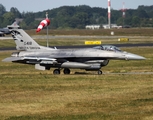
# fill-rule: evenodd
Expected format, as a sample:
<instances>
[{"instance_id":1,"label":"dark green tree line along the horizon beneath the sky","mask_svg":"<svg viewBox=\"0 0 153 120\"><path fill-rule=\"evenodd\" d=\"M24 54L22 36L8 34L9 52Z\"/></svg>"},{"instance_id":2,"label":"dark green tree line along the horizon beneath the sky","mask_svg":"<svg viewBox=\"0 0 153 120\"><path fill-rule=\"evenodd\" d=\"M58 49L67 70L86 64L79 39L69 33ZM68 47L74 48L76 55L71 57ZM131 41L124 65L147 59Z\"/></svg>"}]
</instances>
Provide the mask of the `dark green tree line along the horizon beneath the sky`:
<instances>
[{"instance_id":1,"label":"dark green tree line along the horizon beneath the sky","mask_svg":"<svg viewBox=\"0 0 153 120\"><path fill-rule=\"evenodd\" d=\"M80 6L62 6L41 12L19 12L15 7L10 11L0 4L0 27L6 27L18 18L24 29L37 28L48 12L51 20L50 29L84 29L86 25L107 24L107 8ZM138 6L137 9L127 9L126 17L121 10L111 10L111 23L129 25L131 27L153 27L153 5Z\"/></svg>"}]
</instances>

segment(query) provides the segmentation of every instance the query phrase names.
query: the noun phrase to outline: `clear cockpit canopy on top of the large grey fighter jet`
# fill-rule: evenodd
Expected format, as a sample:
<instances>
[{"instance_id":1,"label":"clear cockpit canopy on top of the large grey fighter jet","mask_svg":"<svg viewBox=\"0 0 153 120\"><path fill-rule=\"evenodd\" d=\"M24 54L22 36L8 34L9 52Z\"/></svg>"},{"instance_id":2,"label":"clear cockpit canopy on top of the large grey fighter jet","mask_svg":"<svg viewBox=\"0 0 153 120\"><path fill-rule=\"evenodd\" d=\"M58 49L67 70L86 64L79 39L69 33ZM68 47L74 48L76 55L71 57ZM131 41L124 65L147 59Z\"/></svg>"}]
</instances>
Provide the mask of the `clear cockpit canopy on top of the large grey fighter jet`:
<instances>
[{"instance_id":1,"label":"clear cockpit canopy on top of the large grey fighter jet","mask_svg":"<svg viewBox=\"0 0 153 120\"><path fill-rule=\"evenodd\" d=\"M101 45L101 46L96 46L93 48L100 49L100 50L114 51L114 52L122 52L120 48L113 45Z\"/></svg>"}]
</instances>

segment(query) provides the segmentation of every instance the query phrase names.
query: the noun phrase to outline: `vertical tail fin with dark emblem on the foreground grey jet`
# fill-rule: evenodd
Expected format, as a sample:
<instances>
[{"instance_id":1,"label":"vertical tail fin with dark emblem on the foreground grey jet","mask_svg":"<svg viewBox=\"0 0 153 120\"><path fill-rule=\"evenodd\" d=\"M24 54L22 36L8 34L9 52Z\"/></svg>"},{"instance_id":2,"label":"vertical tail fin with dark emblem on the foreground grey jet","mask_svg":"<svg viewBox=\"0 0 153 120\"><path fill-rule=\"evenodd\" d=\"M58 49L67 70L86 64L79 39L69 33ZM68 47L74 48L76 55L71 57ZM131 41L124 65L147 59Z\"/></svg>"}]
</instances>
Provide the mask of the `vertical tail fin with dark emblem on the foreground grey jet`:
<instances>
[{"instance_id":1,"label":"vertical tail fin with dark emblem on the foreground grey jet","mask_svg":"<svg viewBox=\"0 0 153 120\"><path fill-rule=\"evenodd\" d=\"M36 51L45 47L36 43L23 29L17 24L7 26L11 31L12 37L16 43L17 50Z\"/></svg>"}]
</instances>

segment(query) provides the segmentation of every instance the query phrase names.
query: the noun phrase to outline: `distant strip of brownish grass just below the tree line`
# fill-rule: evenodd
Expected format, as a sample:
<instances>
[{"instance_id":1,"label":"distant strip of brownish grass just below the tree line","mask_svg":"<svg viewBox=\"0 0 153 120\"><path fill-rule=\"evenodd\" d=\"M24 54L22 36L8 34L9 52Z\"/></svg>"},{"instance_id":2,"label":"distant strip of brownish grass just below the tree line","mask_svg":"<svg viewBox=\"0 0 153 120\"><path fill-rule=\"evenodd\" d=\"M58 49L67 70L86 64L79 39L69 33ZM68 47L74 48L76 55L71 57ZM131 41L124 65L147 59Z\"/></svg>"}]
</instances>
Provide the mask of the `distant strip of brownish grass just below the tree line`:
<instances>
[{"instance_id":1,"label":"distant strip of brownish grass just below the tree line","mask_svg":"<svg viewBox=\"0 0 153 120\"><path fill-rule=\"evenodd\" d=\"M152 28L129 28L129 29L99 29L99 30L86 30L86 29L69 29L69 30L49 30L51 35L89 35L89 36L110 36L111 32L115 36L153 36ZM26 30L30 35L46 35L46 30L36 33L36 30Z\"/></svg>"}]
</instances>

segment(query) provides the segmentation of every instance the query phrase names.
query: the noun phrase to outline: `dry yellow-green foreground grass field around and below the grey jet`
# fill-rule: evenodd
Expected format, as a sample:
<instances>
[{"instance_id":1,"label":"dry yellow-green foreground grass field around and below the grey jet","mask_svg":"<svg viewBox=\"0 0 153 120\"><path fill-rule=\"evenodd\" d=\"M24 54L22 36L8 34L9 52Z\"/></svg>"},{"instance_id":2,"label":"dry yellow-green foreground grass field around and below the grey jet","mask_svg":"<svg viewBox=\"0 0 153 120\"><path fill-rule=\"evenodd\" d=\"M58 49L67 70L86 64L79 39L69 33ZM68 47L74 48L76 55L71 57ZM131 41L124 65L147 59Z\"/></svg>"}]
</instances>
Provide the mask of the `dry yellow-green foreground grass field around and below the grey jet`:
<instances>
[{"instance_id":1,"label":"dry yellow-green foreground grass field around and below the grey jet","mask_svg":"<svg viewBox=\"0 0 153 120\"><path fill-rule=\"evenodd\" d=\"M1 120L152 120L153 48L122 48L144 61L110 61L104 74L72 70L53 75L34 66L4 63L0 52ZM78 71L78 74L75 72ZM137 74L124 74L136 72ZM145 74L144 74L145 73Z\"/></svg>"}]
</instances>

